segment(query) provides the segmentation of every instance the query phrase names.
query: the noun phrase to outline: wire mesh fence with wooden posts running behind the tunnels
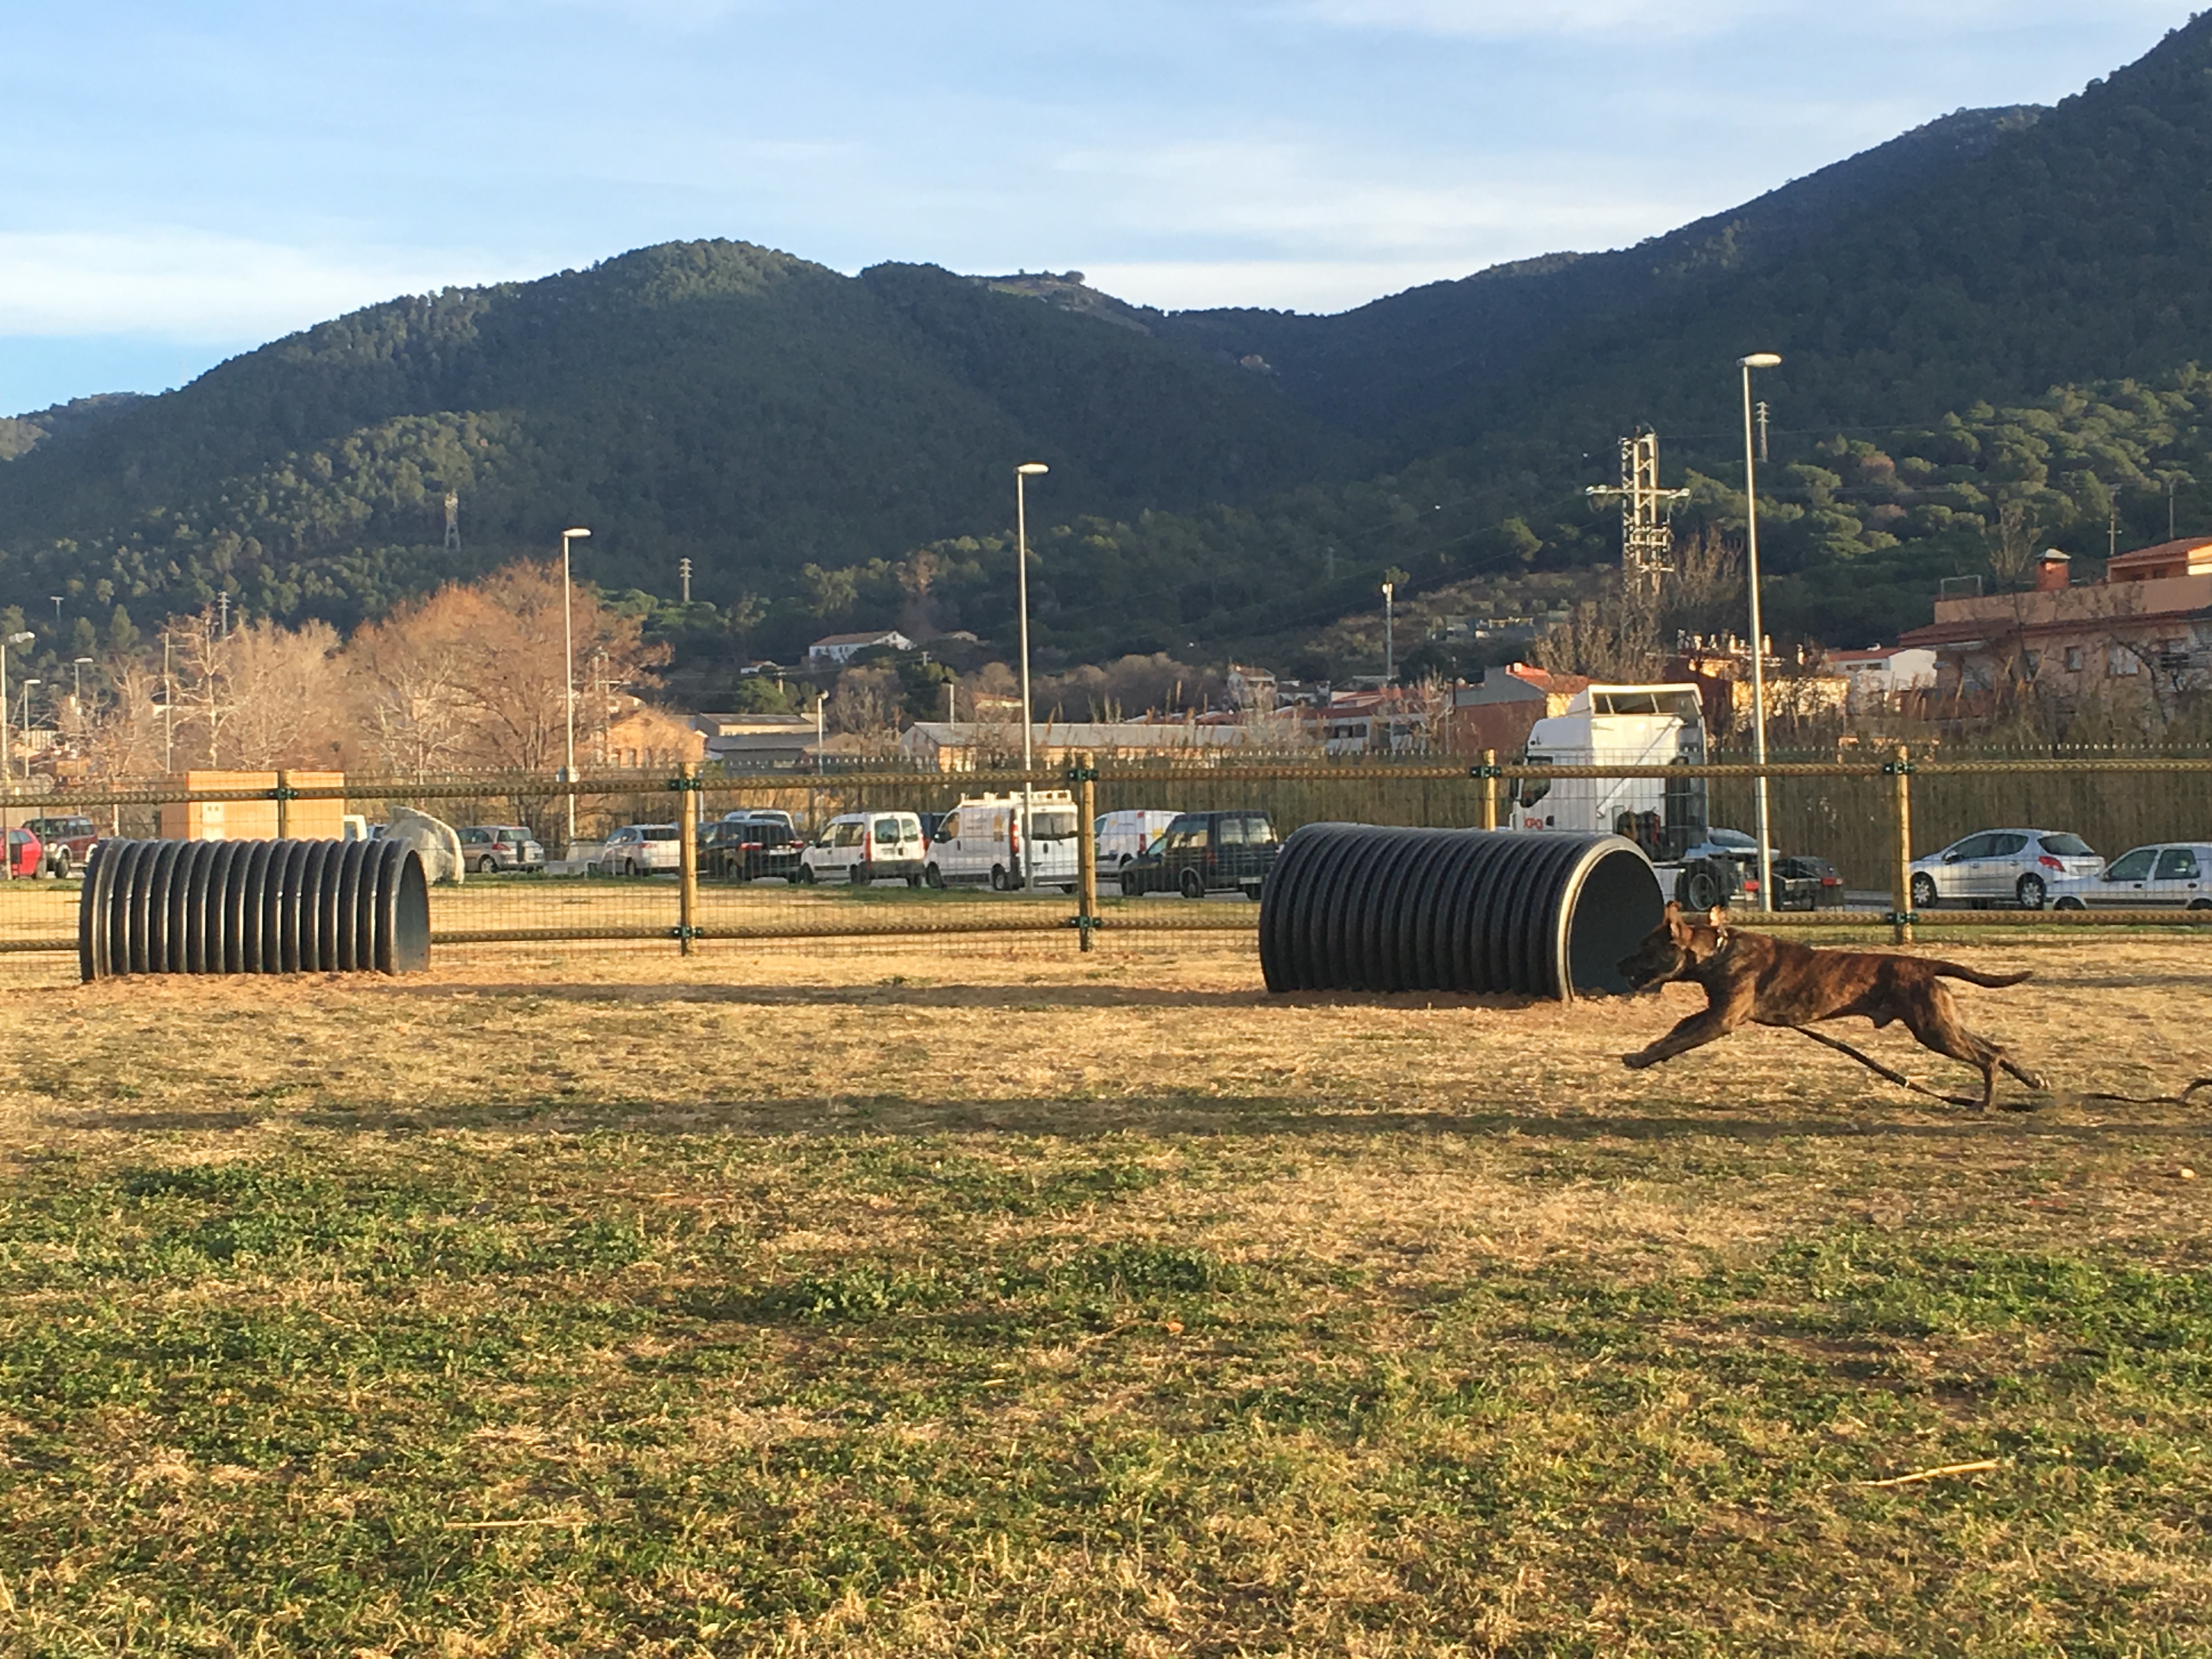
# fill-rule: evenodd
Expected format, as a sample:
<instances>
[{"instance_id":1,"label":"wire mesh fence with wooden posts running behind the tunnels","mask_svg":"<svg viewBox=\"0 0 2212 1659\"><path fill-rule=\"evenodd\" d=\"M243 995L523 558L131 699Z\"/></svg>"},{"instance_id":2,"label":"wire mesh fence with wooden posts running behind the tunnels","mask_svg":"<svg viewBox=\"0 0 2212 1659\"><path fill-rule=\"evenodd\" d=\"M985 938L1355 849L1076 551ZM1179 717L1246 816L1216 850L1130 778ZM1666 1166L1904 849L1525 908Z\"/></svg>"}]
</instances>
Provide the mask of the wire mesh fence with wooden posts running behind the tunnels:
<instances>
[{"instance_id":1,"label":"wire mesh fence with wooden posts running behind the tunnels","mask_svg":"<svg viewBox=\"0 0 2212 1659\"><path fill-rule=\"evenodd\" d=\"M1102 938L1234 936L1259 916L1250 898L1261 891L1263 838L1272 843L1321 821L1513 825L1509 792L1522 781L1630 772L1637 770L1301 757L1206 768L1108 761L1029 774L684 768L573 785L538 774L192 774L131 787L9 794L0 796L7 827L46 827L55 847L73 849L73 867L66 878L18 874L0 883L0 964L15 980L75 978L77 874L95 838L376 836L400 834L409 814L458 832L456 878L431 887L431 942L447 956L555 942L712 956L931 938L947 949L969 942L1057 951L1091 949ZM1838 909L1776 922L1893 925L1905 936L1907 856L1971 830L2059 827L2108 856L2152 841L2212 841L2212 757L1951 754L1938 763L1905 759L1900 776L1898 754L1829 752L1776 754L1765 772L1776 847L1832 860L1851 889ZM1723 757L1703 768L1641 774L1663 774L1670 783L1703 779L1710 823L1747 830L1754 821L1750 765ZM1263 827L1250 830L1243 865L1230 856L1237 849L1219 849L1219 880L1172 867L1161 878L1159 838L1181 814ZM77 834L62 834L69 830ZM1230 830L1214 823L1212 834ZM11 860L9 869L18 865ZM2181 918L2090 911L2064 920Z\"/></svg>"}]
</instances>

